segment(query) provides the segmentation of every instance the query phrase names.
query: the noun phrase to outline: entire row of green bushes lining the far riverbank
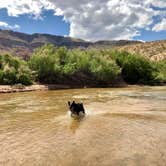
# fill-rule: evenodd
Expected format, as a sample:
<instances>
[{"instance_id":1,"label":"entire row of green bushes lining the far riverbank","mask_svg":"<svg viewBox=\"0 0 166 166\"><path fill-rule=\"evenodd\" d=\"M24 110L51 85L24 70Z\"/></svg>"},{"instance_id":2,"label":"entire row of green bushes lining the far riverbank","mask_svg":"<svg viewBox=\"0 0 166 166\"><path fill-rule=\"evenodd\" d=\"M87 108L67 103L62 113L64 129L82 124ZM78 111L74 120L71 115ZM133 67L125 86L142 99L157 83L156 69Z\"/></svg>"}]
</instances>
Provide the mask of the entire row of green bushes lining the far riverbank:
<instances>
[{"instance_id":1,"label":"entire row of green bushes lining the far riverbank","mask_svg":"<svg viewBox=\"0 0 166 166\"><path fill-rule=\"evenodd\" d=\"M166 83L166 61L109 49L56 48L44 45L29 61L0 56L0 84L107 85L121 77L129 84Z\"/></svg>"}]
</instances>

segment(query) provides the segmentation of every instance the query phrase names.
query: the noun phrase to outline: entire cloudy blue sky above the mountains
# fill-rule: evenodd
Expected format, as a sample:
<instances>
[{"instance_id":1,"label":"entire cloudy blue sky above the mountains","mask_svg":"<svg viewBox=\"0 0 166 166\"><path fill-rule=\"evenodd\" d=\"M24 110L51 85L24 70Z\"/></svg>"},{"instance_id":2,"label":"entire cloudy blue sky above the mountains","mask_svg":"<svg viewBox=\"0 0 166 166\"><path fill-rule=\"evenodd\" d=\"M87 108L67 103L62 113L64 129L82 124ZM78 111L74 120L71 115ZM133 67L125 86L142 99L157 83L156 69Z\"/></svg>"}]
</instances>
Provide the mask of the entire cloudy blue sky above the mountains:
<instances>
[{"instance_id":1,"label":"entire cloudy blue sky above the mountains","mask_svg":"<svg viewBox=\"0 0 166 166\"><path fill-rule=\"evenodd\" d=\"M0 1L0 28L91 41L163 40L166 39L166 1Z\"/></svg>"}]
</instances>

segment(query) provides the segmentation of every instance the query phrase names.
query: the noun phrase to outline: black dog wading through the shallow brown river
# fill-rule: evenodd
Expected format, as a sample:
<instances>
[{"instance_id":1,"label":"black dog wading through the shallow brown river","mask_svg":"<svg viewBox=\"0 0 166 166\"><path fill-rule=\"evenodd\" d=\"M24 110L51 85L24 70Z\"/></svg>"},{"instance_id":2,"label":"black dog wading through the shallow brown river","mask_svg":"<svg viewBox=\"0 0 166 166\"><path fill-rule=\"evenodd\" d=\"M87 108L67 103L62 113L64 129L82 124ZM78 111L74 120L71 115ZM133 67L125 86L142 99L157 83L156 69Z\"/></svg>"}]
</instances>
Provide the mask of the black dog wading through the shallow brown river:
<instances>
[{"instance_id":1,"label":"black dog wading through the shallow brown river","mask_svg":"<svg viewBox=\"0 0 166 166\"><path fill-rule=\"evenodd\" d=\"M68 101L68 106L71 111L71 114L79 115L80 112L85 114L85 109L82 103L75 103L75 101L70 103L70 101Z\"/></svg>"}]
</instances>

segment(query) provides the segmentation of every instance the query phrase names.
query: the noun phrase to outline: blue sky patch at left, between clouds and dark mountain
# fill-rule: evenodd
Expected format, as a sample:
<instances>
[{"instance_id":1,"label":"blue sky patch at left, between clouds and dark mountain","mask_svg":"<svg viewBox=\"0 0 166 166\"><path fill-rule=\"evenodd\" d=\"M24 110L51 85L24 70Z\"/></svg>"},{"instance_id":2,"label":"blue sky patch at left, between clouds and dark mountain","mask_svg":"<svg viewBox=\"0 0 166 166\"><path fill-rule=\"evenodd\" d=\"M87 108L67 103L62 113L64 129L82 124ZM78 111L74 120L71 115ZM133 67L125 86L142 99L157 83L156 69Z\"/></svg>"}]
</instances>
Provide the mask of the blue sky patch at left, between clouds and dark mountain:
<instances>
[{"instance_id":1,"label":"blue sky patch at left, between clouds and dark mountain","mask_svg":"<svg viewBox=\"0 0 166 166\"><path fill-rule=\"evenodd\" d=\"M54 35L69 35L69 23L63 20L62 16L55 16L54 12L43 11L42 19L34 19L32 15L23 14L19 17L8 16L6 9L0 10L0 20L9 25L17 24L20 26L15 31L24 33L48 33ZM1 27L2 28L2 27Z\"/></svg>"}]
</instances>

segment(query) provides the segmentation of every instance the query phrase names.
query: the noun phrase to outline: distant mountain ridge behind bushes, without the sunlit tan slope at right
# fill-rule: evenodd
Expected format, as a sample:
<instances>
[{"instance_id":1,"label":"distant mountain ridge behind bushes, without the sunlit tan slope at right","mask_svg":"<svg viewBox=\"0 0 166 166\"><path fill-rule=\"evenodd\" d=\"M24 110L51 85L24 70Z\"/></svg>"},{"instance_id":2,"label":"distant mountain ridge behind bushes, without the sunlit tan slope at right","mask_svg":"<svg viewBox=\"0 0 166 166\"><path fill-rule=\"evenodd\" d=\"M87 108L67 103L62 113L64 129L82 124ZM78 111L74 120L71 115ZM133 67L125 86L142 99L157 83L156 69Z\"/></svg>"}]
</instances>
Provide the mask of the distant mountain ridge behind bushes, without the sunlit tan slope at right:
<instances>
[{"instance_id":1,"label":"distant mountain ridge behind bushes, without the sunlit tan slope at right","mask_svg":"<svg viewBox=\"0 0 166 166\"><path fill-rule=\"evenodd\" d=\"M67 48L103 48L114 46L125 46L141 43L139 41L119 40L119 41L97 41L88 42L81 39L55 36L49 34L25 34L10 30L0 30L0 54L10 52L13 55L28 59L34 49L44 45L53 44L57 47L66 46Z\"/></svg>"}]
</instances>

